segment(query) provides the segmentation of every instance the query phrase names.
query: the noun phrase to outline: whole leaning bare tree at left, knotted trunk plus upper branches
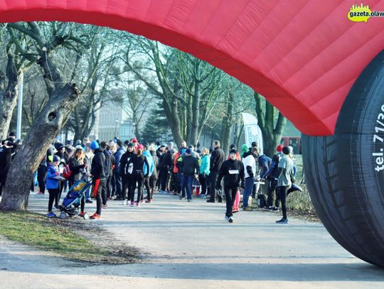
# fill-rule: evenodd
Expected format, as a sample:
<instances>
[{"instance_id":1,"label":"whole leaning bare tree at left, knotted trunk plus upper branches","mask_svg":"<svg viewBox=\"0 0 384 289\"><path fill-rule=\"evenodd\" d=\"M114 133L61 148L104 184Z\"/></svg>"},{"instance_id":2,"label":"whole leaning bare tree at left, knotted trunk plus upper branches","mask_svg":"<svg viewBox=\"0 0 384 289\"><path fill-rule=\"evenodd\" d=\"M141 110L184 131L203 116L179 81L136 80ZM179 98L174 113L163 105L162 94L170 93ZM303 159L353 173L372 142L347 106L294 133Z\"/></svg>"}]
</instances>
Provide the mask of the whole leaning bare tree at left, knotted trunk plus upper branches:
<instances>
[{"instance_id":1,"label":"whole leaning bare tree at left, knotted trunk plus upper branches","mask_svg":"<svg viewBox=\"0 0 384 289\"><path fill-rule=\"evenodd\" d=\"M33 172L80 99L75 84L66 82L55 64L55 50L85 45L89 36L77 34L73 23L10 23L9 27L33 40L36 63L51 89L49 100L29 129L23 147L11 164L0 209L26 209ZM22 48L21 48L22 49ZM24 52L24 51L22 51Z\"/></svg>"}]
</instances>

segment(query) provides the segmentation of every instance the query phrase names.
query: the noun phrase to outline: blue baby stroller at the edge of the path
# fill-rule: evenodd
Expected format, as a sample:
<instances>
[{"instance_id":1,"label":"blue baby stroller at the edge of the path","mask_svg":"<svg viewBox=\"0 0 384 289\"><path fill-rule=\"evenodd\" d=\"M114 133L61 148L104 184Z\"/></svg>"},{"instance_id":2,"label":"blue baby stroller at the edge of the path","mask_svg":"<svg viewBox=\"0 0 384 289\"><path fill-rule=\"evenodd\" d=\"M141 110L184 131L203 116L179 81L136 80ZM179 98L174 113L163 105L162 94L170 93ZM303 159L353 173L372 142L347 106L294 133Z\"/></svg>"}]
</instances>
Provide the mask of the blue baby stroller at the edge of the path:
<instances>
[{"instance_id":1,"label":"blue baby stroller at the edge of the path","mask_svg":"<svg viewBox=\"0 0 384 289\"><path fill-rule=\"evenodd\" d=\"M60 219L66 219L68 216L74 217L80 214L79 207L81 199L85 198L85 192L91 185L91 179L84 177L70 187L67 196L63 200L63 204L60 205ZM83 217L84 219L89 218L87 214Z\"/></svg>"}]
</instances>

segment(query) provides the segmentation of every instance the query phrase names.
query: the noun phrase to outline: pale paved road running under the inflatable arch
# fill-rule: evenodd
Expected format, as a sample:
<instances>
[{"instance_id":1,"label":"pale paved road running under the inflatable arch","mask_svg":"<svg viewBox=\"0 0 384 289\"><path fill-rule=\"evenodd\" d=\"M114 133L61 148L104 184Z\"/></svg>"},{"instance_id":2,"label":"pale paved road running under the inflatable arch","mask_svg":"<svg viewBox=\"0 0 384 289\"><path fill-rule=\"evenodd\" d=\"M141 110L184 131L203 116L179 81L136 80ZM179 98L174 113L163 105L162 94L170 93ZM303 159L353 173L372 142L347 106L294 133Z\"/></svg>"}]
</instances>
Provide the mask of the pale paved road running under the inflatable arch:
<instances>
[{"instance_id":1,"label":"pale paved road running under the inflatable arch","mask_svg":"<svg viewBox=\"0 0 384 289\"><path fill-rule=\"evenodd\" d=\"M45 212L48 200L30 200ZM384 288L383 269L352 256L318 223L274 224L280 214L253 211L228 224L224 204L172 195L121 204L110 202L93 222L146 252L142 263L79 268L0 239L0 288Z\"/></svg>"}]
</instances>

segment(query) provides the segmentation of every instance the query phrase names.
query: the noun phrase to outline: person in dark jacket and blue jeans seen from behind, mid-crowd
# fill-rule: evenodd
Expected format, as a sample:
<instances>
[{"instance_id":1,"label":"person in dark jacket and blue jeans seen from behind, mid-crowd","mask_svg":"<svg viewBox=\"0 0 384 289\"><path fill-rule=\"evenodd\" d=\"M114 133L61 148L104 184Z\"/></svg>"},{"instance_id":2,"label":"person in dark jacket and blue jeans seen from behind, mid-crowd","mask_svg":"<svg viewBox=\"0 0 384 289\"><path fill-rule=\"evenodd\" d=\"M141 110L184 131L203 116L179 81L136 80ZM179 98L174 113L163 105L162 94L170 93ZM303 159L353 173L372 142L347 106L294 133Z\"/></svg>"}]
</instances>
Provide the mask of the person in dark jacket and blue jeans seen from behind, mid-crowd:
<instances>
[{"instance_id":1,"label":"person in dark jacket and blue jeans seen from behind, mid-crowd","mask_svg":"<svg viewBox=\"0 0 384 289\"><path fill-rule=\"evenodd\" d=\"M188 202L192 201L191 188L193 177L200 172L200 166L198 165L197 158L191 156L191 148L187 148L183 160L180 164L181 172L181 196L180 200L183 200L187 195Z\"/></svg>"}]
</instances>

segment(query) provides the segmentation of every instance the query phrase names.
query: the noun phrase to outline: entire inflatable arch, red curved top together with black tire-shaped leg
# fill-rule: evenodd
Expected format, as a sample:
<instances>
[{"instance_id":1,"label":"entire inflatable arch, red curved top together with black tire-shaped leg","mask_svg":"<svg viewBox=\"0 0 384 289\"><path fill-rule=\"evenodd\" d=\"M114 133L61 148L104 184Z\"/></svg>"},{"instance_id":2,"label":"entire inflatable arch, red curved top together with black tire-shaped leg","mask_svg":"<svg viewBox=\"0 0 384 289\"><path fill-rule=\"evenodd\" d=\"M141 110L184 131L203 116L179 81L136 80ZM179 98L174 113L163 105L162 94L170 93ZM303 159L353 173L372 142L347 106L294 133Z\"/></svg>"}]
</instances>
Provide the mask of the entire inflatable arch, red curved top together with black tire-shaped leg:
<instances>
[{"instance_id":1,"label":"entire inflatable arch, red curved top together with black tire-shaped leg","mask_svg":"<svg viewBox=\"0 0 384 289\"><path fill-rule=\"evenodd\" d=\"M369 11L384 11L384 1L366 2ZM191 53L260 92L306 135L306 180L326 228L351 253L384 266L384 18L356 22L350 12L368 7L354 5L0 0L0 21L129 31Z\"/></svg>"}]
</instances>

